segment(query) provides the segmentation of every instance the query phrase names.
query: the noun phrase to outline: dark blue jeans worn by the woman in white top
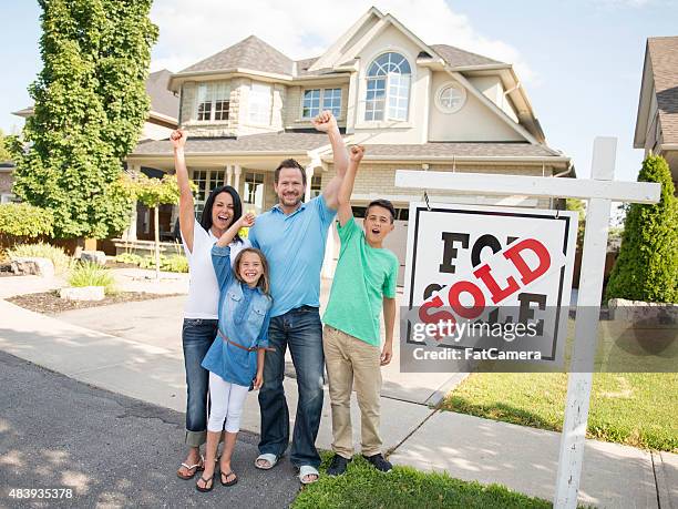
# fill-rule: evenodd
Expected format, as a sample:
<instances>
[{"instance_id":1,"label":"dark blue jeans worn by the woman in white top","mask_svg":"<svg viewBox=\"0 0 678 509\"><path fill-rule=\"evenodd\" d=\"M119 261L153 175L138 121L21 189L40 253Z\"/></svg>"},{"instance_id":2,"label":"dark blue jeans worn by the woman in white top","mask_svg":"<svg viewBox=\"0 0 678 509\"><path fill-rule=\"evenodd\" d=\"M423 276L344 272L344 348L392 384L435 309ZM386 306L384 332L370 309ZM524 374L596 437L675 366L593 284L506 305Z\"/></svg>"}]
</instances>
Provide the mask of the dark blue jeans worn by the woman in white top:
<instances>
[{"instance_id":1,"label":"dark blue jeans worn by the woman in white top","mask_svg":"<svg viewBox=\"0 0 678 509\"><path fill-rule=\"evenodd\" d=\"M186 445L199 447L207 437L209 371L201 366L217 335L218 320L184 318L182 343L186 366Z\"/></svg>"}]
</instances>

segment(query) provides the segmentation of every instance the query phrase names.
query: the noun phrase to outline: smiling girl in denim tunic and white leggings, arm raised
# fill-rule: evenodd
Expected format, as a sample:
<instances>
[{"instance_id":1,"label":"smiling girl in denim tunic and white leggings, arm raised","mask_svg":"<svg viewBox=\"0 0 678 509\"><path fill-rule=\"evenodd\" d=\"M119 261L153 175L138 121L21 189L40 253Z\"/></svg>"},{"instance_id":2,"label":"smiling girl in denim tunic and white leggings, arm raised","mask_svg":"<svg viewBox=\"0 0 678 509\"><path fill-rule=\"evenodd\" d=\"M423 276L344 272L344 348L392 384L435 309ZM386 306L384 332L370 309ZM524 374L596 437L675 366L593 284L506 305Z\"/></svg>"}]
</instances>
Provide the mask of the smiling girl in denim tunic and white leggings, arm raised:
<instances>
[{"instance_id":1,"label":"smiling girl in denim tunic and white leggings, arm raised","mask_svg":"<svg viewBox=\"0 0 678 509\"><path fill-rule=\"evenodd\" d=\"M222 235L212 248L212 262L219 282L219 324L216 340L203 360L209 370L209 421L205 446L205 471L198 479L198 491L212 491L219 436L225 430L219 461L222 485L238 481L230 458L238 436L243 405L250 385L264 383L264 356L268 347L271 298L268 294L268 264L259 250L247 247L230 266L229 243L243 226L254 224L246 214Z\"/></svg>"}]
</instances>

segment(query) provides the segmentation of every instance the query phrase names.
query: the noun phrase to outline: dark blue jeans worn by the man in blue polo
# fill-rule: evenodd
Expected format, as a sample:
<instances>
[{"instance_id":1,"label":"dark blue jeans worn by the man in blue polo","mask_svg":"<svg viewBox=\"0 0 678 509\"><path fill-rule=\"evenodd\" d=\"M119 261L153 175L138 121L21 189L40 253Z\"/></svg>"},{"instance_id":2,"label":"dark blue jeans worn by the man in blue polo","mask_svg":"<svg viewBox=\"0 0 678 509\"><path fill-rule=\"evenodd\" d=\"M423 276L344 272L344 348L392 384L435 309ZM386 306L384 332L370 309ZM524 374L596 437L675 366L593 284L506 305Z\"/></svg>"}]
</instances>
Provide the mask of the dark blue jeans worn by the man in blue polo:
<instances>
[{"instance_id":1,"label":"dark blue jeans worn by the man in blue polo","mask_svg":"<svg viewBox=\"0 0 678 509\"><path fill-rule=\"evenodd\" d=\"M259 390L261 409L260 454L282 456L289 444L289 410L282 378L285 350L289 352L297 373L299 403L292 435L290 461L296 467L320 466L316 437L322 413L322 324L317 307L301 306L271 318L266 353L264 386Z\"/></svg>"}]
</instances>

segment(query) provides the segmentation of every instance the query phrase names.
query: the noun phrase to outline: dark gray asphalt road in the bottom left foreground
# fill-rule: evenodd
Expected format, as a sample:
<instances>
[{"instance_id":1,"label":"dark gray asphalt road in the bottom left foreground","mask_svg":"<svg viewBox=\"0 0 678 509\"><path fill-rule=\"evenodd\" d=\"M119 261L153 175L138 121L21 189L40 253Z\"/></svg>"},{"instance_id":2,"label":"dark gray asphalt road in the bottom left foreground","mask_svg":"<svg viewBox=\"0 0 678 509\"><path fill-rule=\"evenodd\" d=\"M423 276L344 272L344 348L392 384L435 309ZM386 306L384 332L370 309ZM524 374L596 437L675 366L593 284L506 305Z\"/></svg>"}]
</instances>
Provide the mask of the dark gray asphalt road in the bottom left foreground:
<instances>
[{"instance_id":1,"label":"dark gray asphalt road in the bottom left foreground","mask_svg":"<svg viewBox=\"0 0 678 509\"><path fill-rule=\"evenodd\" d=\"M73 498L32 507L281 508L299 482L285 461L254 468L256 437L240 434L233 488L199 493L175 476L184 416L92 388L0 352L0 507L27 507L11 488L71 488Z\"/></svg>"}]
</instances>

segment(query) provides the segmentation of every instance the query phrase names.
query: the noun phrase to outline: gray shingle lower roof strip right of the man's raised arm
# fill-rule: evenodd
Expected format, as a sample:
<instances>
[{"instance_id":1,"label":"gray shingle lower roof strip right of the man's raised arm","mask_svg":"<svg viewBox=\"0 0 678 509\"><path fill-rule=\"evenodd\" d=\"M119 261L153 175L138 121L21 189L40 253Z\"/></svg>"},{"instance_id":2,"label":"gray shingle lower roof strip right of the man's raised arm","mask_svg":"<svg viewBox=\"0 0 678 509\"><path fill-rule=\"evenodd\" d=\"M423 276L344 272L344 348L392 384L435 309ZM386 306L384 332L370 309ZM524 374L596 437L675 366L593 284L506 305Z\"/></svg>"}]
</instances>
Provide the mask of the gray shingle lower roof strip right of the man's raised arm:
<instances>
[{"instance_id":1,"label":"gray shingle lower roof strip right of the man's raised arm","mask_svg":"<svg viewBox=\"0 0 678 509\"><path fill-rule=\"evenodd\" d=\"M502 142L431 142L417 145L370 145L366 144L366 157L377 156L414 156L414 157L554 157L553 152L543 145L531 143Z\"/></svg>"}]
</instances>

